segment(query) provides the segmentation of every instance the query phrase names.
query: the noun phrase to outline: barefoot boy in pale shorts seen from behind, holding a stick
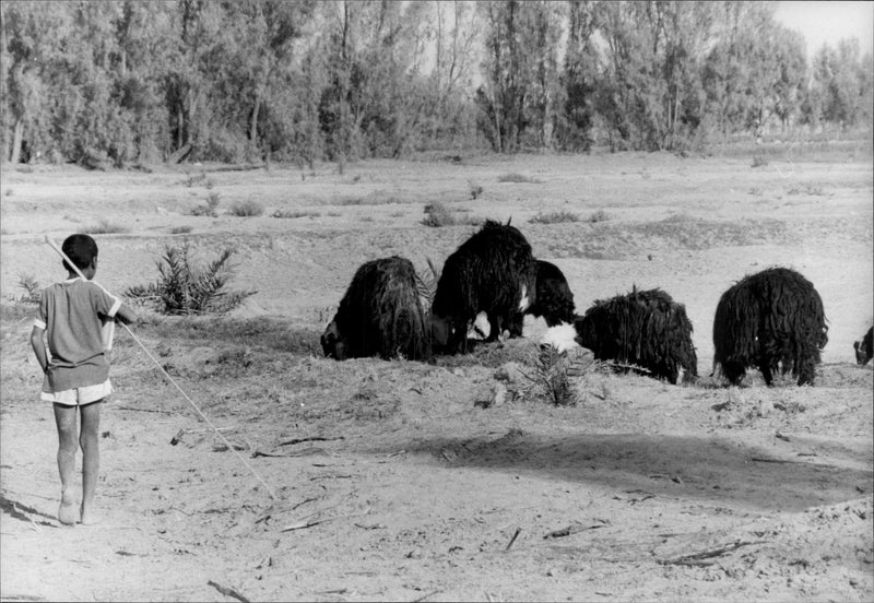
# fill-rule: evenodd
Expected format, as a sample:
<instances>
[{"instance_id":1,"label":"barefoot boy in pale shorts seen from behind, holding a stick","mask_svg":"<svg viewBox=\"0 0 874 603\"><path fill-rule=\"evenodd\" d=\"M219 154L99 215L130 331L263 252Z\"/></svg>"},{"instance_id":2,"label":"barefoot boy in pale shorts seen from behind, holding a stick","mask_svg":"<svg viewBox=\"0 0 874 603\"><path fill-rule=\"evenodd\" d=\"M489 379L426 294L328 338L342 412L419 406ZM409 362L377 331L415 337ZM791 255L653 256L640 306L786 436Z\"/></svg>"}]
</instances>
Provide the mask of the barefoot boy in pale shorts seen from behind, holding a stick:
<instances>
[{"instance_id":1,"label":"barefoot boy in pale shorts seen from behind, holding a stick","mask_svg":"<svg viewBox=\"0 0 874 603\"><path fill-rule=\"evenodd\" d=\"M61 475L61 523L95 523L94 490L99 471L101 402L113 392L109 360L105 354L103 321L135 322L137 316L97 283L97 244L88 235L72 235L63 252L87 279L63 261L68 279L43 291L34 320L31 345L43 369L40 400L52 402L58 427L58 471ZM48 339L49 356L44 333ZM76 438L76 409L82 426ZM82 446L82 505L73 494L76 439Z\"/></svg>"}]
</instances>

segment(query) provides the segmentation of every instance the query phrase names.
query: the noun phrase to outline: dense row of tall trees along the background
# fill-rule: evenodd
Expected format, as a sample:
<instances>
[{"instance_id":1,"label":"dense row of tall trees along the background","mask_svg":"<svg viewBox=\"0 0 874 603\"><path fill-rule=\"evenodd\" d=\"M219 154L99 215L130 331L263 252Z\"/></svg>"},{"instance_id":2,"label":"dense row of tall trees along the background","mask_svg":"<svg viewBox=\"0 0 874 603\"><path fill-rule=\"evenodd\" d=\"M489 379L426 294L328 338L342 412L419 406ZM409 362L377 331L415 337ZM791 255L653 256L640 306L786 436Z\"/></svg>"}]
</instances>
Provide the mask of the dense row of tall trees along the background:
<instances>
[{"instance_id":1,"label":"dense row of tall trees along the background","mask_svg":"<svg viewBox=\"0 0 874 603\"><path fill-rule=\"evenodd\" d=\"M682 152L870 127L874 107L858 40L808 63L764 2L5 1L0 17L12 162Z\"/></svg>"}]
</instances>

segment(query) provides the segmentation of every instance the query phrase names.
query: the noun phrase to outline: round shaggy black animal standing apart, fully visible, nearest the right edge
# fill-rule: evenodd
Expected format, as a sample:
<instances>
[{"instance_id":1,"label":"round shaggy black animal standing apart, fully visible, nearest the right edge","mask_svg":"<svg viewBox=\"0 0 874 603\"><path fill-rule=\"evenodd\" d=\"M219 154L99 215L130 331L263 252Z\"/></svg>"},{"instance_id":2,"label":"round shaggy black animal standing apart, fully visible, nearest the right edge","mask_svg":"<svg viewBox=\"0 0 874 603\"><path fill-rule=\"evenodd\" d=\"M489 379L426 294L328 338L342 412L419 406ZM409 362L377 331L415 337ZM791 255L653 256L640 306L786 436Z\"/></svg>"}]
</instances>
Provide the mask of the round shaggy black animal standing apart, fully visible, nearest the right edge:
<instances>
[{"instance_id":1,"label":"round shaggy black animal standing apart, fully visible, nearest the right edge","mask_svg":"<svg viewBox=\"0 0 874 603\"><path fill-rule=\"evenodd\" d=\"M794 270L770 268L722 294L713 318L713 365L733 385L756 366L770 386L782 363L800 386L813 385L827 333L823 299L813 284Z\"/></svg>"}]
</instances>

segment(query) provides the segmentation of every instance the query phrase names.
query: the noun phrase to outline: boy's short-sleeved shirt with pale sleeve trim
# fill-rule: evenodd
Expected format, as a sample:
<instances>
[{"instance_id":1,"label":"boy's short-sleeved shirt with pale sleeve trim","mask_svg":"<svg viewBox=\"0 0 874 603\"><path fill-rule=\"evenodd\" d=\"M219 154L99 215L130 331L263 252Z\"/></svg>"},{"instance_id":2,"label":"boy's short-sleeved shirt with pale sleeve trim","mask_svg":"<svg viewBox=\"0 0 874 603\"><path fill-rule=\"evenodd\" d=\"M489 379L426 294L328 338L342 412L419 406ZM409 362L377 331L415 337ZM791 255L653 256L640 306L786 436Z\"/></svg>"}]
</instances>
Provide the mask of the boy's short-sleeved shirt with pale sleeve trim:
<instances>
[{"instance_id":1,"label":"boy's short-sleeved shirt with pale sleeve trim","mask_svg":"<svg viewBox=\"0 0 874 603\"><path fill-rule=\"evenodd\" d=\"M96 386L109 377L104 354L103 321L113 319L121 299L93 281L80 277L43 289L34 327L45 329L51 353L43 391Z\"/></svg>"}]
</instances>

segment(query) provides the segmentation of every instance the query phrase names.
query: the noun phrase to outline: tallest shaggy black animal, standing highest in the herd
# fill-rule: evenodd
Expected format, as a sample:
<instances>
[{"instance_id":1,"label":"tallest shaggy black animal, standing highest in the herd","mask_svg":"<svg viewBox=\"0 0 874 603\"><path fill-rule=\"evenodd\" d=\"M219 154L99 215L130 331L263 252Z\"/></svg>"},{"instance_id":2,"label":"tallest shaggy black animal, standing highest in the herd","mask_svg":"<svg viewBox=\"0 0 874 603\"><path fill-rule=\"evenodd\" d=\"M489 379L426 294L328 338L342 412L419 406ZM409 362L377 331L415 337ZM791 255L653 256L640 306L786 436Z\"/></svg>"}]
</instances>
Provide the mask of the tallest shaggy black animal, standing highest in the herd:
<instances>
[{"instance_id":1,"label":"tallest shaggy black animal, standing highest in the herd","mask_svg":"<svg viewBox=\"0 0 874 603\"><path fill-rule=\"evenodd\" d=\"M536 299L536 264L518 228L487 220L447 258L430 311L434 351L466 350L469 324L488 316L495 341Z\"/></svg>"}]
</instances>

